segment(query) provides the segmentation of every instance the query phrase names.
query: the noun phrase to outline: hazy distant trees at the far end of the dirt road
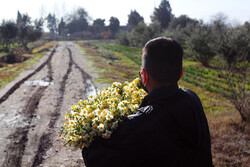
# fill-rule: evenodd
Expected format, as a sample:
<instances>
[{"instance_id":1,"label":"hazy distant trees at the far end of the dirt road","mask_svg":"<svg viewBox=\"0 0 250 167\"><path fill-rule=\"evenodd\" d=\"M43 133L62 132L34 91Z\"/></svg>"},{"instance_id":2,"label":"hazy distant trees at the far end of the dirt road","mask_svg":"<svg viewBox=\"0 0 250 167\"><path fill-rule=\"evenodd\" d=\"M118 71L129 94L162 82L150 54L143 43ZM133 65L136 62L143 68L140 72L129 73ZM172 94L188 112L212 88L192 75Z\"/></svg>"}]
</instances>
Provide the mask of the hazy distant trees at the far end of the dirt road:
<instances>
[{"instance_id":1,"label":"hazy distant trees at the far end of the dirt road","mask_svg":"<svg viewBox=\"0 0 250 167\"><path fill-rule=\"evenodd\" d=\"M114 38L120 28L120 21L110 17L109 25L105 26L105 19L95 19L90 25L90 18L84 8L68 14L60 21L55 14L49 13L46 17L50 38L69 39L109 39Z\"/></svg>"}]
</instances>

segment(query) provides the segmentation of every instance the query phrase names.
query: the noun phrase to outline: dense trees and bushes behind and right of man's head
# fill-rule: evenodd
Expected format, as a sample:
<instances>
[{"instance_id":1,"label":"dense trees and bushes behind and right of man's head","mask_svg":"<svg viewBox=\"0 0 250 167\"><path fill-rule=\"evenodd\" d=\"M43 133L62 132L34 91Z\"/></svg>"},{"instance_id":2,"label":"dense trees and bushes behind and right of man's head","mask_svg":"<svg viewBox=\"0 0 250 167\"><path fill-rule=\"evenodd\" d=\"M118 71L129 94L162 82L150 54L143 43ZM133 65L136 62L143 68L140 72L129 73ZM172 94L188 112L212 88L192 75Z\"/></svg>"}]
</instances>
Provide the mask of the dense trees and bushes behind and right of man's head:
<instances>
[{"instance_id":1,"label":"dense trees and bushes behind and right of man's head","mask_svg":"<svg viewBox=\"0 0 250 167\"><path fill-rule=\"evenodd\" d=\"M167 0L162 0L155 8L149 25L136 11L131 11L128 17L130 30L118 36L118 42L122 45L143 47L152 38L167 36L184 47L186 57L192 57L206 67L210 66L210 60L214 57L221 57L229 67L250 59L249 22L232 26L222 13L211 18L210 23L187 15L175 17Z\"/></svg>"}]
</instances>

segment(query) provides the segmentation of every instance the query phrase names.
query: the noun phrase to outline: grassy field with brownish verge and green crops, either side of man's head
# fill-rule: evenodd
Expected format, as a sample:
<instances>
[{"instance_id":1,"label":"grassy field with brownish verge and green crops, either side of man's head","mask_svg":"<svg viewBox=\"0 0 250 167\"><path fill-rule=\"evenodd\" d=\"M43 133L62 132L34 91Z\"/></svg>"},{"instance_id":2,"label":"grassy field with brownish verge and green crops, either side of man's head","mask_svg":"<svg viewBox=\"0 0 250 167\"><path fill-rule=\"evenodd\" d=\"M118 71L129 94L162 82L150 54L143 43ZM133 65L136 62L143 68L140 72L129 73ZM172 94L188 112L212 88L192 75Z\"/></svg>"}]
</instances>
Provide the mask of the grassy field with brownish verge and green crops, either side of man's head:
<instances>
[{"instance_id":1,"label":"grassy field with brownish verge and green crops, either side of man's head","mask_svg":"<svg viewBox=\"0 0 250 167\"><path fill-rule=\"evenodd\" d=\"M84 48L90 61L96 66L100 75L97 82L111 84L114 81L131 81L138 77L141 66L141 49L99 41L77 42L77 44ZM223 93L230 93L226 81L218 77L215 69L205 68L199 62L189 60L184 60L183 69L184 75L180 81L182 87L191 86L196 92L200 92L202 89L218 98L222 97L220 95ZM128 73L130 75L127 75ZM204 99L204 108L207 111L223 110L218 106L207 106L206 104L209 103L206 102L206 98L203 98L203 93L200 94L200 97ZM225 99L225 101L227 100Z\"/></svg>"}]
</instances>

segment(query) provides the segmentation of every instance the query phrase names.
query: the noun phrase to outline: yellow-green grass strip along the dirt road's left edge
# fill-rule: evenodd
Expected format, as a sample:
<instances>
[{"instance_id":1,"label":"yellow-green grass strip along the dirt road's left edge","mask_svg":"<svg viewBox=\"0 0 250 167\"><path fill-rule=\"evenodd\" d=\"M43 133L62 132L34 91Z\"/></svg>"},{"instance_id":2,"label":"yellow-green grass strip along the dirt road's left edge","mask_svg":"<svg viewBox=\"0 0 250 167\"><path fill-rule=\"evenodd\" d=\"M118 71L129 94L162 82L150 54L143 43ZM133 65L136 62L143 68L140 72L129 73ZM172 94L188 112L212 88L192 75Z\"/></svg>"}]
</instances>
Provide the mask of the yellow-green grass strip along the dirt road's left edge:
<instances>
[{"instance_id":1,"label":"yellow-green grass strip along the dirt road's left edge","mask_svg":"<svg viewBox=\"0 0 250 167\"><path fill-rule=\"evenodd\" d=\"M32 54L24 54L23 56L28 59L21 63L15 64L3 64L3 67L0 68L0 89L7 83L14 80L22 71L28 67L35 64L47 51L47 49L52 48L56 45L56 42L49 42L39 48L46 48L46 50L39 52L40 49L35 48L35 51L32 51Z\"/></svg>"}]
</instances>

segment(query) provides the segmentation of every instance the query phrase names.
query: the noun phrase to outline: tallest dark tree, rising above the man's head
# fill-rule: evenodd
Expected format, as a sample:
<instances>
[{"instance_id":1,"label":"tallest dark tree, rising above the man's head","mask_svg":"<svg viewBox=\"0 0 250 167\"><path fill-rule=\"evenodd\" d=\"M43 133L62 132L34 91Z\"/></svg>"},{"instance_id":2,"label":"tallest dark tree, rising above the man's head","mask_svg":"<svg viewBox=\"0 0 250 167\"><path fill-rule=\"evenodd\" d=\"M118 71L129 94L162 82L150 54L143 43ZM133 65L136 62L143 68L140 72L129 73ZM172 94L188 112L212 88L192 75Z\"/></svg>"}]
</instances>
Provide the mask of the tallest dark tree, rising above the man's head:
<instances>
[{"instance_id":1,"label":"tallest dark tree, rising above the man's head","mask_svg":"<svg viewBox=\"0 0 250 167\"><path fill-rule=\"evenodd\" d=\"M159 7L155 8L151 16L152 22L158 21L163 29L166 29L172 18L172 9L168 0L162 0Z\"/></svg>"}]
</instances>

